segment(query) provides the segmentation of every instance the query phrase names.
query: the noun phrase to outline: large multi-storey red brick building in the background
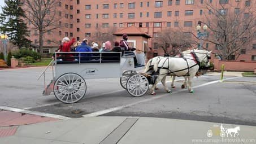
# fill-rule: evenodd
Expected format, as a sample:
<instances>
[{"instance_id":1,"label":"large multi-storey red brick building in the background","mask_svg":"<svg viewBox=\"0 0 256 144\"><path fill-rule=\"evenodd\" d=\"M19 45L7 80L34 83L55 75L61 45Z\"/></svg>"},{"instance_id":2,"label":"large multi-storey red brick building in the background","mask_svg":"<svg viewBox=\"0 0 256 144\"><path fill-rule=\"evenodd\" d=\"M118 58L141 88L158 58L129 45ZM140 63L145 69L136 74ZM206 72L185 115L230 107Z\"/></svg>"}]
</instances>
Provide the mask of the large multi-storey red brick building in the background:
<instances>
[{"instance_id":1,"label":"large multi-storey red brick building in the background","mask_svg":"<svg viewBox=\"0 0 256 144\"><path fill-rule=\"evenodd\" d=\"M63 27L54 32L45 33L44 53L58 47L63 37L75 37L77 40L91 38L97 29L108 32L109 28L123 29L131 25L139 28L150 37L148 46L154 55L163 55L163 50L153 41L157 33L164 28L181 28L183 32L196 34L198 21L203 21L210 12L202 8L204 1L219 5L221 2L242 3L256 7L251 0L141 0L141 1L103 1L103 0L63 0L59 3L58 15L62 16L59 25ZM240 5L237 4L237 7ZM231 7L234 9L234 7ZM231 9L228 8L228 9ZM235 7L236 8L236 7ZM232 10L233 10L232 9ZM32 25L29 25L32 28ZM255 33L255 32L254 32ZM31 40L38 45L38 32L31 29ZM209 50L215 51L215 45L205 42ZM246 51L242 51L237 60L256 60L256 33Z\"/></svg>"}]
</instances>

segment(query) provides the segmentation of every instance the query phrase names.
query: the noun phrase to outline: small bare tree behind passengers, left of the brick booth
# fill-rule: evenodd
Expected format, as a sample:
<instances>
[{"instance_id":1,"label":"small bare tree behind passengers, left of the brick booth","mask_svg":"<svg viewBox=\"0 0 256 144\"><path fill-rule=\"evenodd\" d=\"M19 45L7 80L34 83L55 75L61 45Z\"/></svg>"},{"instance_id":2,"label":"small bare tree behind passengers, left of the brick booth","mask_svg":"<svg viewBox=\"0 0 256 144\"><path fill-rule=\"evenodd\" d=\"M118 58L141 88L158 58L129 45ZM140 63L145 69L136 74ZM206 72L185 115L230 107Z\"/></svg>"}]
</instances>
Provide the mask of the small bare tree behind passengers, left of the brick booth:
<instances>
[{"instance_id":1,"label":"small bare tree behind passengers, left of the brick booth","mask_svg":"<svg viewBox=\"0 0 256 144\"><path fill-rule=\"evenodd\" d=\"M92 33L91 41L98 42L99 45L106 41L114 43L115 36L113 33L115 33L116 30L116 27L102 28L102 25L98 25L98 28L95 28L94 32Z\"/></svg>"}]
</instances>

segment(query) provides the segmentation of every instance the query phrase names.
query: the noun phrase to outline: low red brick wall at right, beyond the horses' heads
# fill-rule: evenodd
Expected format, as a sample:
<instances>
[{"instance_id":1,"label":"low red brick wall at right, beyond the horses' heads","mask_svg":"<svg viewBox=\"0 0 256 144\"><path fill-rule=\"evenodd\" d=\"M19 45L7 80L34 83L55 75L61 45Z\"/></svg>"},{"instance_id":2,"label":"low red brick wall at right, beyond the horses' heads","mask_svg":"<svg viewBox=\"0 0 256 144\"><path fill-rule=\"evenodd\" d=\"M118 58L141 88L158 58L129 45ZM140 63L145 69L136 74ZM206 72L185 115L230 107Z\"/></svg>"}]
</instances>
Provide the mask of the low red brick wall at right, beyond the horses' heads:
<instances>
[{"instance_id":1,"label":"low red brick wall at right, beyond the horses' heads","mask_svg":"<svg viewBox=\"0 0 256 144\"><path fill-rule=\"evenodd\" d=\"M215 70L221 70L222 64L224 64L224 70L229 71L254 71L254 69L256 69L256 62L222 61L214 59Z\"/></svg>"}]
</instances>

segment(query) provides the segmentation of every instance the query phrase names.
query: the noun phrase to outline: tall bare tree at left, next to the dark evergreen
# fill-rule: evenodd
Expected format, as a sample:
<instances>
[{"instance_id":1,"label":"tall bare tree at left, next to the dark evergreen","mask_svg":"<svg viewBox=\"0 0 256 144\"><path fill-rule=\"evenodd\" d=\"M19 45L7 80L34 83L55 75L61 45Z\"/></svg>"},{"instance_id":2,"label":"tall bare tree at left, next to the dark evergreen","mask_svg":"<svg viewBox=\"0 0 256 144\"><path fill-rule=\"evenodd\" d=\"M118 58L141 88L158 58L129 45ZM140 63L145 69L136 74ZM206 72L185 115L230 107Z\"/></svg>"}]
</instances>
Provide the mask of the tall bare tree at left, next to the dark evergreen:
<instances>
[{"instance_id":1,"label":"tall bare tree at left, next to the dark evergreen","mask_svg":"<svg viewBox=\"0 0 256 144\"><path fill-rule=\"evenodd\" d=\"M35 29L39 31L39 49L42 55L42 47L44 45L44 33L48 30L60 28L59 16L57 15L60 0L25 0L24 10L26 18Z\"/></svg>"}]
</instances>

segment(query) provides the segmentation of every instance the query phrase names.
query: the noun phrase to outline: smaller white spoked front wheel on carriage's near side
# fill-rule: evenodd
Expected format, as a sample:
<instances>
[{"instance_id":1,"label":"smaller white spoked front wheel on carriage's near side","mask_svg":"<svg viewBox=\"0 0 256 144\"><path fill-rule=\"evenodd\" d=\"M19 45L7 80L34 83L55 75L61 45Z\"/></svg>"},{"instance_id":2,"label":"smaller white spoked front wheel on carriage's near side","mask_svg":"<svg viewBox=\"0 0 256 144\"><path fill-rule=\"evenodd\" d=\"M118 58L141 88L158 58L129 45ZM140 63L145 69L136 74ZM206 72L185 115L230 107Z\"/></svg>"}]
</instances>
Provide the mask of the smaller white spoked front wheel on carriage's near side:
<instances>
[{"instance_id":1,"label":"smaller white spoked front wheel on carriage's near side","mask_svg":"<svg viewBox=\"0 0 256 144\"><path fill-rule=\"evenodd\" d=\"M141 97L149 90L149 81L144 75L132 75L127 81L127 91L133 97Z\"/></svg>"}]
</instances>

